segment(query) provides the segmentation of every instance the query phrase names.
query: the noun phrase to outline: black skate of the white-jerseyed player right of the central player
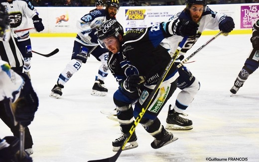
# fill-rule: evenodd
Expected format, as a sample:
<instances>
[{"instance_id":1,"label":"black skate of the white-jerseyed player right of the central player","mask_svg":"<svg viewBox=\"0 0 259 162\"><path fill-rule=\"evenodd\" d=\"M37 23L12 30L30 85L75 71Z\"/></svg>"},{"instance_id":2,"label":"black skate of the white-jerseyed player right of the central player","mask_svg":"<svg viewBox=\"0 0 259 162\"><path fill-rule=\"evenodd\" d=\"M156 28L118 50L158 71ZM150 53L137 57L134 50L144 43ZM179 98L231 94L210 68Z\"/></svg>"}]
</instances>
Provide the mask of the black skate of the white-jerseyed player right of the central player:
<instances>
[{"instance_id":1,"label":"black skate of the white-jerseyed player right of the central player","mask_svg":"<svg viewBox=\"0 0 259 162\"><path fill-rule=\"evenodd\" d=\"M178 113L174 109L170 110L171 105L169 106L168 115L166 118L166 127L165 129L171 130L190 130L192 129L192 121L186 118L183 118L179 115L187 116L184 113Z\"/></svg>"}]
</instances>

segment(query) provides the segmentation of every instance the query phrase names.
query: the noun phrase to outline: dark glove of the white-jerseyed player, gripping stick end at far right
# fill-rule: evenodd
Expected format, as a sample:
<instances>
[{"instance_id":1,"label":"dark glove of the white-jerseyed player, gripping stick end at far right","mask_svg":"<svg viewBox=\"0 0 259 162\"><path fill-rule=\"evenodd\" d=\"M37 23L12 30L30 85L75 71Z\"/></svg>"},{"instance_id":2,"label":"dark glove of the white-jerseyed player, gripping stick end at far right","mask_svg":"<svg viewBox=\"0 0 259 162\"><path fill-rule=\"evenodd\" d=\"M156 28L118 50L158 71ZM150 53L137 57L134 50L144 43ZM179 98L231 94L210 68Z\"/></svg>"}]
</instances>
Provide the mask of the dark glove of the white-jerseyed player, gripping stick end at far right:
<instances>
[{"instance_id":1,"label":"dark glove of the white-jerseyed player, gripping stick end at far right","mask_svg":"<svg viewBox=\"0 0 259 162\"><path fill-rule=\"evenodd\" d=\"M235 28L235 23L234 23L232 17L230 17L230 16L221 17L220 23L219 23L220 31L223 31L224 33L229 33L234 28Z\"/></svg>"}]
</instances>

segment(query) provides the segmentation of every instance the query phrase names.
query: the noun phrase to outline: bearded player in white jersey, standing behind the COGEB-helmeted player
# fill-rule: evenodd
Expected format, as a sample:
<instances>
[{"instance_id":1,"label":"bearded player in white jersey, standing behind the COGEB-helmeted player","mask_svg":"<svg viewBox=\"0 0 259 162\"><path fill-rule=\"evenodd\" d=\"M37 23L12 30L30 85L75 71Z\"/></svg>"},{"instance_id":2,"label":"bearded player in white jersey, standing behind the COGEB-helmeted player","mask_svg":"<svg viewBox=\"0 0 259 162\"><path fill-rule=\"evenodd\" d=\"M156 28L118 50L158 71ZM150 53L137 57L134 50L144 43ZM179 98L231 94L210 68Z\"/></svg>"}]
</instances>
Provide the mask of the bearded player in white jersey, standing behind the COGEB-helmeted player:
<instances>
[{"instance_id":1,"label":"bearded player in white jersey, standing behind the COGEB-helmeted player","mask_svg":"<svg viewBox=\"0 0 259 162\"><path fill-rule=\"evenodd\" d=\"M83 63L86 63L90 54L101 62L91 94L99 96L107 94L108 89L104 86L104 80L110 71L107 65L108 50L101 48L98 44L97 29L105 21L115 19L120 5L118 0L107 0L106 5L106 9L94 10L77 21L79 32L74 41L71 61L59 75L50 97L59 98L62 95L61 89L64 88L64 84L81 68Z\"/></svg>"}]
</instances>

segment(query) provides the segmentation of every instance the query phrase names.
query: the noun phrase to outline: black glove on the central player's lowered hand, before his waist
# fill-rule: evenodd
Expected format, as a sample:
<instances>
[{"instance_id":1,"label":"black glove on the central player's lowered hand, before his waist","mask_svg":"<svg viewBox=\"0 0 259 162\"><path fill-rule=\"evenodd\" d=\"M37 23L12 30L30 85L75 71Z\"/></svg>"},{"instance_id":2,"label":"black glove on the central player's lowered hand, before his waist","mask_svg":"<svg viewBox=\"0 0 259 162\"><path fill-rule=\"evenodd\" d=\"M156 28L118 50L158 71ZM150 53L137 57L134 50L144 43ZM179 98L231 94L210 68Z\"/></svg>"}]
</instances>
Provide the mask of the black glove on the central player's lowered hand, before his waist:
<instances>
[{"instance_id":1,"label":"black glove on the central player's lowered hand, before his waist","mask_svg":"<svg viewBox=\"0 0 259 162\"><path fill-rule=\"evenodd\" d=\"M144 76L132 75L128 76L124 81L125 88L129 91L137 91L137 89L145 82Z\"/></svg>"}]
</instances>

